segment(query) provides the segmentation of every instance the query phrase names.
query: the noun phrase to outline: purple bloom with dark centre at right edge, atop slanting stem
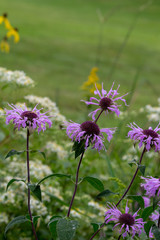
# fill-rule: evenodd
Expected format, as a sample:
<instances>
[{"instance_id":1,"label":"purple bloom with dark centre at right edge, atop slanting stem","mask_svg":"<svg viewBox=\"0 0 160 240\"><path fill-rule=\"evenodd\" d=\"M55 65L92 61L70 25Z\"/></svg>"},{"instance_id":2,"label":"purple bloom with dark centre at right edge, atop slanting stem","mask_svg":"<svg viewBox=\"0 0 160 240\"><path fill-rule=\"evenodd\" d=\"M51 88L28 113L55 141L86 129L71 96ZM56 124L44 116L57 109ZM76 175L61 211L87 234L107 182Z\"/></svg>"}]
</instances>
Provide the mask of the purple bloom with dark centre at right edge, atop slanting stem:
<instances>
[{"instance_id":1,"label":"purple bloom with dark centre at right edge, atop slanting stem","mask_svg":"<svg viewBox=\"0 0 160 240\"><path fill-rule=\"evenodd\" d=\"M143 130L136 123L130 124L128 127L132 128L132 130L128 132L128 137L135 141L140 141L140 148L144 143L147 151L152 147L154 147L155 152L160 150L160 135L158 134L158 131L160 131L159 124L154 130L152 127Z\"/></svg>"}]
</instances>

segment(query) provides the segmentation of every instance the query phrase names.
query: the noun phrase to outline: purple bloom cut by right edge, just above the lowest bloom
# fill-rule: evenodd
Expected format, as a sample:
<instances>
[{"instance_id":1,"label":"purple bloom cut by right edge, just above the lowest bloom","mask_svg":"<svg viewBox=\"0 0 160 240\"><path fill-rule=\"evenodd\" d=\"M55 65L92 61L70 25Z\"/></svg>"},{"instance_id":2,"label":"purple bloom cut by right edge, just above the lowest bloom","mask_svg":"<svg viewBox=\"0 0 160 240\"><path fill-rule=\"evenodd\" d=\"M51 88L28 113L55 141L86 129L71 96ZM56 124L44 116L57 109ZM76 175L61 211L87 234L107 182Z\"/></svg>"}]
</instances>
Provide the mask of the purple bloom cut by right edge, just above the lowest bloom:
<instances>
[{"instance_id":1,"label":"purple bloom cut by right edge, just above the lowest bloom","mask_svg":"<svg viewBox=\"0 0 160 240\"><path fill-rule=\"evenodd\" d=\"M160 179L154 177L141 177L145 183L141 183L141 187L146 190L148 197L155 197L160 195Z\"/></svg>"}]
</instances>

